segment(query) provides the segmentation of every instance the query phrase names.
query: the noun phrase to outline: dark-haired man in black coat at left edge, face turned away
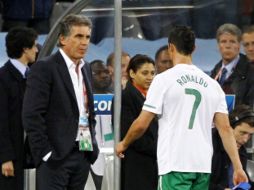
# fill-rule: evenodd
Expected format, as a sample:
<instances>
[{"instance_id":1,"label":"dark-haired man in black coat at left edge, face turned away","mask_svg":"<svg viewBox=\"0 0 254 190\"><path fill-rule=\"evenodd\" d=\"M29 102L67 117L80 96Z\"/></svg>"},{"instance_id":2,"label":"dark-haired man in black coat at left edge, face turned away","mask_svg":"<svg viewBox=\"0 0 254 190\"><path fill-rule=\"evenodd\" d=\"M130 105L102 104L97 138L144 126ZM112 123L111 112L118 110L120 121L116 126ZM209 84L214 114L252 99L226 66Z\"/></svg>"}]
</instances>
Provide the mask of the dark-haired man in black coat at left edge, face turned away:
<instances>
[{"instance_id":1,"label":"dark-haired man in black coat at left edge, face turned away","mask_svg":"<svg viewBox=\"0 0 254 190\"><path fill-rule=\"evenodd\" d=\"M21 121L27 64L36 57L37 33L15 27L6 36L9 60L0 68L0 189L24 189L24 130Z\"/></svg>"}]
</instances>

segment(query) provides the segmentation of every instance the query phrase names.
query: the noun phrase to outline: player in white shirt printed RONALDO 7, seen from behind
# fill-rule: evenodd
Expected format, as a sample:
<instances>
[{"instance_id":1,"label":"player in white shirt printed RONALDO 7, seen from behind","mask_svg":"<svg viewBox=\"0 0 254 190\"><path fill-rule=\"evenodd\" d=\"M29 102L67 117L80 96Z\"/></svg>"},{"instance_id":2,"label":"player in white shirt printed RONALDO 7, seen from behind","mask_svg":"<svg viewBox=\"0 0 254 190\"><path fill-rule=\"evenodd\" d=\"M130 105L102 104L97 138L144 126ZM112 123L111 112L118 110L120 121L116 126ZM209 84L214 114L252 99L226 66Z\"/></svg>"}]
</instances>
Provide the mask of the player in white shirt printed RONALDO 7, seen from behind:
<instances>
[{"instance_id":1,"label":"player in white shirt printed RONALDO 7, seen from behind","mask_svg":"<svg viewBox=\"0 0 254 190\"><path fill-rule=\"evenodd\" d=\"M124 157L130 143L158 115L158 189L208 189L214 122L234 166L234 183L247 181L229 125L225 94L215 80L192 64L194 33L188 27L175 27L168 39L174 67L154 78L141 114L117 145L117 155Z\"/></svg>"}]
</instances>

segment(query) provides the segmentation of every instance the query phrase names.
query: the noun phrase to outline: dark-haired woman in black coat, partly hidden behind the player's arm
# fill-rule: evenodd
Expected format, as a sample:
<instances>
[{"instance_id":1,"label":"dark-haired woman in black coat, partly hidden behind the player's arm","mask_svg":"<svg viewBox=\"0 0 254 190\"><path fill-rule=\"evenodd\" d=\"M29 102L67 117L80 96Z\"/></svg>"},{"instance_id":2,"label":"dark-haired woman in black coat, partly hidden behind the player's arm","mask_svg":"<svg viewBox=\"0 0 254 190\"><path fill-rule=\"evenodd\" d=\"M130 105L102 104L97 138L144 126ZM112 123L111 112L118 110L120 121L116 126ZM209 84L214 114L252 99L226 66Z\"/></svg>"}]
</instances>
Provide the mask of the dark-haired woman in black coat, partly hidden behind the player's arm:
<instances>
[{"instance_id":1,"label":"dark-haired woman in black coat, partly hidden behind the player's arm","mask_svg":"<svg viewBox=\"0 0 254 190\"><path fill-rule=\"evenodd\" d=\"M137 54L131 58L127 73L129 80L122 92L121 139L142 110L155 75L155 63L150 57ZM154 119L145 134L126 150L121 167L121 190L157 189L157 130L158 122Z\"/></svg>"}]
</instances>

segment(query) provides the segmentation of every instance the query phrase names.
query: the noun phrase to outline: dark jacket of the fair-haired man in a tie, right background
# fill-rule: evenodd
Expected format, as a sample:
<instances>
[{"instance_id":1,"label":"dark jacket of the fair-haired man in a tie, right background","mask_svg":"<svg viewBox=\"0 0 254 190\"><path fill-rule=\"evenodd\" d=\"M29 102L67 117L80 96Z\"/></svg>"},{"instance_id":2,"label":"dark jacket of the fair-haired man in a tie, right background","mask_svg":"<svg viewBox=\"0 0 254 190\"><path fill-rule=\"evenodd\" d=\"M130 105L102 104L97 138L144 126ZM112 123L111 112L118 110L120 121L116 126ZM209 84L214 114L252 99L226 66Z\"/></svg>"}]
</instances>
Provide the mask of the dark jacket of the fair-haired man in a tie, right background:
<instances>
[{"instance_id":1,"label":"dark jacket of the fair-haired man in a tie, right background","mask_svg":"<svg viewBox=\"0 0 254 190\"><path fill-rule=\"evenodd\" d=\"M215 78L222 66L220 61L211 72L211 77ZM254 103L254 68L248 63L245 55L240 54L240 59L233 71L222 85L226 94L236 95L236 105L247 104L253 106Z\"/></svg>"}]
</instances>

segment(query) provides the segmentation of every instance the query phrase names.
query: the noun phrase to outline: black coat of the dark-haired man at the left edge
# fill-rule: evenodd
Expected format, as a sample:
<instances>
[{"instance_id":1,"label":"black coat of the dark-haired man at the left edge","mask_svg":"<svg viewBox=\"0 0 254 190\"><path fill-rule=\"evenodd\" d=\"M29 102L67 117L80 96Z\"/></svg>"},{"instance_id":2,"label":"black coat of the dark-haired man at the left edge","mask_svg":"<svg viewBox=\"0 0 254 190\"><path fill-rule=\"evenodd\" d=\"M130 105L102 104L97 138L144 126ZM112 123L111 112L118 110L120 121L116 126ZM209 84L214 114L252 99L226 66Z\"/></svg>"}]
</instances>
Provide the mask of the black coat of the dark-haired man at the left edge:
<instances>
[{"instance_id":1,"label":"black coat of the dark-haired man at the left edge","mask_svg":"<svg viewBox=\"0 0 254 190\"><path fill-rule=\"evenodd\" d=\"M8 61L0 68L0 166L13 161L15 181L8 186L0 179L0 189L23 189L24 130L21 121L26 80ZM2 173L0 178L3 177Z\"/></svg>"}]
</instances>

